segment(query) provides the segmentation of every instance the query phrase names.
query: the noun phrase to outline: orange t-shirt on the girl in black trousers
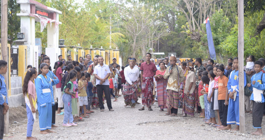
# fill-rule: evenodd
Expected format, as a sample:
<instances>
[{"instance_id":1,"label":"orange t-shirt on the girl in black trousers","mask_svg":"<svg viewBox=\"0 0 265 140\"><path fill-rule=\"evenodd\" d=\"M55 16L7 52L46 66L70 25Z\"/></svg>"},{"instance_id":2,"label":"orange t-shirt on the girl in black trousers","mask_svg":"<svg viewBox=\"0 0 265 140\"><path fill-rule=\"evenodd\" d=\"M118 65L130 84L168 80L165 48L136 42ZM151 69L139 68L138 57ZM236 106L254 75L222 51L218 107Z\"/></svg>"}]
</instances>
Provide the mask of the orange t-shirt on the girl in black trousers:
<instances>
[{"instance_id":1,"label":"orange t-shirt on the girl in black trousers","mask_svg":"<svg viewBox=\"0 0 265 140\"><path fill-rule=\"evenodd\" d=\"M228 78L226 76L218 79L218 100L225 100ZM229 98L229 96L228 96Z\"/></svg>"}]
</instances>

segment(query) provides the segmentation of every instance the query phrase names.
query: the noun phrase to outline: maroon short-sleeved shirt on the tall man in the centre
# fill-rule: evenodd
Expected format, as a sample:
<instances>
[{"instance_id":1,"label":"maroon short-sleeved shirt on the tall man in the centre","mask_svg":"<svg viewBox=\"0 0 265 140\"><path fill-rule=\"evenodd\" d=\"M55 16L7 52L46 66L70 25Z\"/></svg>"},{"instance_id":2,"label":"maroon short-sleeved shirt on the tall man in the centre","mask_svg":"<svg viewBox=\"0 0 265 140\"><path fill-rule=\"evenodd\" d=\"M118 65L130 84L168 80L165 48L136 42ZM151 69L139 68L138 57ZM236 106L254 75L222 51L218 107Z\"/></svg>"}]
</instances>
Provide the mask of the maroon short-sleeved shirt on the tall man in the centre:
<instances>
[{"instance_id":1,"label":"maroon short-sleeved shirt on the tall man in the centre","mask_svg":"<svg viewBox=\"0 0 265 140\"><path fill-rule=\"evenodd\" d=\"M157 67L154 63L150 62L147 64L146 62L141 64L140 71L143 71L142 77L153 77L154 72L157 71Z\"/></svg>"}]
</instances>

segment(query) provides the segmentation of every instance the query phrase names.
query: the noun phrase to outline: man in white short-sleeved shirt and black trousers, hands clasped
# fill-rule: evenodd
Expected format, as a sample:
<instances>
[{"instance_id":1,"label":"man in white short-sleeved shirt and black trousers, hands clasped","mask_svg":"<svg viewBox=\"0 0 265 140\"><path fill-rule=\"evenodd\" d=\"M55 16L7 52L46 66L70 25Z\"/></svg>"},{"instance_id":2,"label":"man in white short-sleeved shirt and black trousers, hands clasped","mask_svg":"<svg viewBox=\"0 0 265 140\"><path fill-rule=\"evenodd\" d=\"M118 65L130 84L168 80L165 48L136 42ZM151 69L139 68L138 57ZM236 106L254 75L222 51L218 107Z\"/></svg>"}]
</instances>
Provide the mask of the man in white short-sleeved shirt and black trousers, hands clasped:
<instances>
[{"instance_id":1,"label":"man in white short-sleeved shirt and black trousers, hands clasped","mask_svg":"<svg viewBox=\"0 0 265 140\"><path fill-rule=\"evenodd\" d=\"M98 58L99 65L95 66L94 68L94 77L96 78L96 87L99 97L99 108L100 111L104 111L104 105L103 105L103 91L105 93L105 97L107 100L108 110L114 111L111 106L111 100L110 100L110 94L109 94L109 83L108 83L108 77L110 75L110 70L108 65L104 64L104 59L102 56L99 56Z\"/></svg>"}]
</instances>

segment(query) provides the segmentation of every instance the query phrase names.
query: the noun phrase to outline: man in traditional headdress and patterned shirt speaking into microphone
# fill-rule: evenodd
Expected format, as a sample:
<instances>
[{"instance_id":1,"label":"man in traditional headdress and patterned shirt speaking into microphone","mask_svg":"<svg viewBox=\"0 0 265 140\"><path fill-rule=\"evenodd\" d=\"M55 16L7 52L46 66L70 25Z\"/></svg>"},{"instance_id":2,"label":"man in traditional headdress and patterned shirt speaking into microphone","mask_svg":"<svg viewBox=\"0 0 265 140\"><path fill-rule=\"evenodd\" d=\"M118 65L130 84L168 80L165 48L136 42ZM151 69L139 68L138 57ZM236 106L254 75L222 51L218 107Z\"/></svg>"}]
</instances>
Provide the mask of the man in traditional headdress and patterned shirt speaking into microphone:
<instances>
[{"instance_id":1,"label":"man in traditional headdress and patterned shirt speaking into microphone","mask_svg":"<svg viewBox=\"0 0 265 140\"><path fill-rule=\"evenodd\" d=\"M179 91L180 83L184 80L184 75L181 67L176 65L177 59L175 56L169 58L171 66L166 68L164 78L167 79L167 97L166 97L166 107L169 116L176 116L178 113L179 105Z\"/></svg>"}]
</instances>

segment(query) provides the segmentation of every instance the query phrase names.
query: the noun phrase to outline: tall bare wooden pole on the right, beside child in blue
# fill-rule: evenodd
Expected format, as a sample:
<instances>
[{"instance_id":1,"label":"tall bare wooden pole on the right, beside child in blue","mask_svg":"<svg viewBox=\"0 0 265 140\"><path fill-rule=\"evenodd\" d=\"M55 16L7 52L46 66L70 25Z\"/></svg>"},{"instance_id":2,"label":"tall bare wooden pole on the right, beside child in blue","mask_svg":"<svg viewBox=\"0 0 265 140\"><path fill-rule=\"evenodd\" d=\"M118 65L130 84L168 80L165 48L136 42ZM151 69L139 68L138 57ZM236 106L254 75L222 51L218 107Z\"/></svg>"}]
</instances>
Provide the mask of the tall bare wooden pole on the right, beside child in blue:
<instances>
[{"instance_id":1,"label":"tall bare wooden pole on the right, beside child in blue","mask_svg":"<svg viewBox=\"0 0 265 140\"><path fill-rule=\"evenodd\" d=\"M244 0L238 0L238 58L239 58L239 125L240 133L245 128L244 96Z\"/></svg>"}]
</instances>

